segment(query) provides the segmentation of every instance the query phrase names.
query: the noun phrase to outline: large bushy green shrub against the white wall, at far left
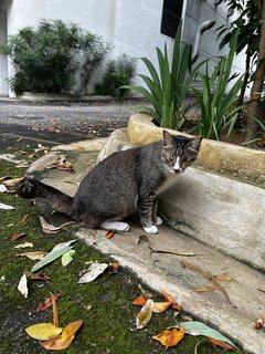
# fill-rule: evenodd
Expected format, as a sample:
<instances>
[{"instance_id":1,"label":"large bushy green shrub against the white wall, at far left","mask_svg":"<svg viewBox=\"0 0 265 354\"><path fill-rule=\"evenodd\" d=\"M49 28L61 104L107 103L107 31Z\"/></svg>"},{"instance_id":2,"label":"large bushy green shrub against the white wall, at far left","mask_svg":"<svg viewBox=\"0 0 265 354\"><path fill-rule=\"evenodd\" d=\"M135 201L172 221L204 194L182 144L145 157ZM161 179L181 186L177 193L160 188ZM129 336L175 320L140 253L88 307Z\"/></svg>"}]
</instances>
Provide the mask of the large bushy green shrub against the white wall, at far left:
<instances>
[{"instance_id":1,"label":"large bushy green shrub against the white wall, at far left","mask_svg":"<svg viewBox=\"0 0 265 354\"><path fill-rule=\"evenodd\" d=\"M87 63L93 62L94 48L99 48L97 54L103 60L109 46L102 38L76 24L42 20L36 29L23 28L18 34L9 37L0 52L11 58L17 70L17 74L9 80L15 93L68 93L75 85L77 67L87 67ZM100 60L92 63L88 79Z\"/></svg>"}]
</instances>

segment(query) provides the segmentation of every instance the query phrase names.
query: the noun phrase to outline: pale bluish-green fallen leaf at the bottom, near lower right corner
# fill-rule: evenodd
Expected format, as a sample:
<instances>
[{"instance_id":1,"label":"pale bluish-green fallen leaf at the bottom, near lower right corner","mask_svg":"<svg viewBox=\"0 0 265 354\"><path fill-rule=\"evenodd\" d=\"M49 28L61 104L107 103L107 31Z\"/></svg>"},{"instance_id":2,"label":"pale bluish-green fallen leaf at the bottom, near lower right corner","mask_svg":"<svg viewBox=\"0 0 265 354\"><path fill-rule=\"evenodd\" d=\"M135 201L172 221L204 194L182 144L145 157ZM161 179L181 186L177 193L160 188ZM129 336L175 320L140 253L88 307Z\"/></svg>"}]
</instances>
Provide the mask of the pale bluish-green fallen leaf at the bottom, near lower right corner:
<instances>
[{"instance_id":1,"label":"pale bluish-green fallen leaf at the bottom, near lower right corner","mask_svg":"<svg viewBox=\"0 0 265 354\"><path fill-rule=\"evenodd\" d=\"M221 334L216 330L213 330L213 329L209 327L206 324L204 324L204 323L202 323L200 321L181 322L180 325L184 327L184 331L188 334L191 334L191 335L204 335L204 336L208 336L208 337L210 336L211 339L229 343L230 345L236 347L233 344L233 342L231 342L223 334Z\"/></svg>"}]
</instances>

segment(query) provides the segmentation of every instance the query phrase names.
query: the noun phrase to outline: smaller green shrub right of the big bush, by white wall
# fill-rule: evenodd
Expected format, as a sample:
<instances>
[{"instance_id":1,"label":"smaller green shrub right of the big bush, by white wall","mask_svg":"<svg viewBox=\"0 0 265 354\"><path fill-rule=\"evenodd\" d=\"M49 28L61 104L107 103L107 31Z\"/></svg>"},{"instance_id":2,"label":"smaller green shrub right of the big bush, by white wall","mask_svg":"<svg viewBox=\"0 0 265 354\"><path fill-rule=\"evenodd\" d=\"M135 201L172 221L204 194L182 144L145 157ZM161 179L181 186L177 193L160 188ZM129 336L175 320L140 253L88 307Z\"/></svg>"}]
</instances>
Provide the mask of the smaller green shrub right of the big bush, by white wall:
<instances>
[{"instance_id":1,"label":"smaller green shrub right of the big bush, by white wall","mask_svg":"<svg viewBox=\"0 0 265 354\"><path fill-rule=\"evenodd\" d=\"M120 86L128 85L135 75L135 59L126 54L116 60L109 60L103 75L103 83L95 84L96 94L121 96L124 90Z\"/></svg>"}]
</instances>

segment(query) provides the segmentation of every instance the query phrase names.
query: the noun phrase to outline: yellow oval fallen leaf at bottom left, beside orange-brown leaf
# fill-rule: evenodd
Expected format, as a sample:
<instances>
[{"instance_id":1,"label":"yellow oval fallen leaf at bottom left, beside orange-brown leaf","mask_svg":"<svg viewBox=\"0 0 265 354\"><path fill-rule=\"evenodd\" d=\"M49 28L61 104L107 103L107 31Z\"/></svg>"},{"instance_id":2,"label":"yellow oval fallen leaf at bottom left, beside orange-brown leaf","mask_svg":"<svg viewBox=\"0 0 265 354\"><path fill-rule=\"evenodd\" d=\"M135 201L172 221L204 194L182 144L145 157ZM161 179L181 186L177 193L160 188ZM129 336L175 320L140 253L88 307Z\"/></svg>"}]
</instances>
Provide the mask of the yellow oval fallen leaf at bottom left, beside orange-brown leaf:
<instances>
[{"instance_id":1,"label":"yellow oval fallen leaf at bottom left, beside orange-brown leaf","mask_svg":"<svg viewBox=\"0 0 265 354\"><path fill-rule=\"evenodd\" d=\"M63 329L52 323L36 323L25 329L25 332L35 340L46 341L57 336Z\"/></svg>"}]
</instances>

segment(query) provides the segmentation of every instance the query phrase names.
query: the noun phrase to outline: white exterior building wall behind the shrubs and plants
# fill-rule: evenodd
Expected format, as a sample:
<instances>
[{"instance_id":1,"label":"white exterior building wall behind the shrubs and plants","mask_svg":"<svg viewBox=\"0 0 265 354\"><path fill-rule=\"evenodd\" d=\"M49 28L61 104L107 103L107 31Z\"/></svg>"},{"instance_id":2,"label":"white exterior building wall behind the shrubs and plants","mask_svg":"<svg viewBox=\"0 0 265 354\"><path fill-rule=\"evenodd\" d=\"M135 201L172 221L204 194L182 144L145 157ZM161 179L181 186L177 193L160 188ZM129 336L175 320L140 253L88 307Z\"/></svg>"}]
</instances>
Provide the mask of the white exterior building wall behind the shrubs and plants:
<instances>
[{"instance_id":1,"label":"white exterior building wall behind the shrubs and plants","mask_svg":"<svg viewBox=\"0 0 265 354\"><path fill-rule=\"evenodd\" d=\"M62 19L77 23L110 42L114 49L109 58L121 53L134 58L148 56L156 65L155 46L162 48L167 41L169 51L172 49L172 39L160 33L163 0L43 0L41 3L35 0L6 1L8 34L15 34L25 25L35 27L41 19ZM214 3L214 0L211 1ZM214 29L226 21L226 12L224 6L214 8L201 0L183 0L184 42L194 43L201 22L212 19L218 22L202 37L200 59L221 54L218 52ZM242 66L241 63L239 66ZM98 80L100 71L99 69L94 81ZM141 61L137 61L137 72L147 74ZM9 75L12 74L13 67L9 65ZM142 82L136 77L135 83Z\"/></svg>"}]
</instances>

